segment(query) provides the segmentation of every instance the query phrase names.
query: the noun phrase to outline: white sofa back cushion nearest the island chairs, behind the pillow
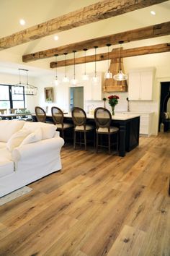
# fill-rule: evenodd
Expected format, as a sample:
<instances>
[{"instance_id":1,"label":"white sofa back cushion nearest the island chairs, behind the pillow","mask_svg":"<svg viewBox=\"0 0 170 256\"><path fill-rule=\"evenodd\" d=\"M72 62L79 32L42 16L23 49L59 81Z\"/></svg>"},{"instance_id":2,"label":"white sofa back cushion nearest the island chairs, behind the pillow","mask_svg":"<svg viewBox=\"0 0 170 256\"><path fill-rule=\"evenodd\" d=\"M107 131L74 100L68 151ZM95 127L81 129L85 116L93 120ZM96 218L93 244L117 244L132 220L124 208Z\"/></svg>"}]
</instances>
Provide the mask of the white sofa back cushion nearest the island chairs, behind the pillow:
<instances>
[{"instance_id":1,"label":"white sofa back cushion nearest the island chairs, behind the pillow","mask_svg":"<svg viewBox=\"0 0 170 256\"><path fill-rule=\"evenodd\" d=\"M29 122L26 121L23 128L30 129L30 131L35 132L35 129L42 129L42 140L50 139L55 136L56 127L54 124L45 124L40 121Z\"/></svg>"}]
</instances>

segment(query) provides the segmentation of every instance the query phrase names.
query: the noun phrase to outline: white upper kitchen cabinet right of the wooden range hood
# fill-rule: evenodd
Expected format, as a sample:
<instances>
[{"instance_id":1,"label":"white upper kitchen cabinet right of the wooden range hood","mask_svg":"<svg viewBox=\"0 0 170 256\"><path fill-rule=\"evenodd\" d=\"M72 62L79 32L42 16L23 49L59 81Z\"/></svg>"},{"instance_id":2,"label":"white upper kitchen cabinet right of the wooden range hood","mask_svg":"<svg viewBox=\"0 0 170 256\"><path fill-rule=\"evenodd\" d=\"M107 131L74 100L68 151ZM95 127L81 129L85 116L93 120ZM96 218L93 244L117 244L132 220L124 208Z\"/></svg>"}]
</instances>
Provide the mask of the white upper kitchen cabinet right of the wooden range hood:
<instances>
[{"instance_id":1,"label":"white upper kitchen cabinet right of the wooden range hood","mask_svg":"<svg viewBox=\"0 0 170 256\"><path fill-rule=\"evenodd\" d=\"M136 69L129 72L128 98L130 101L151 101L155 68Z\"/></svg>"}]
</instances>

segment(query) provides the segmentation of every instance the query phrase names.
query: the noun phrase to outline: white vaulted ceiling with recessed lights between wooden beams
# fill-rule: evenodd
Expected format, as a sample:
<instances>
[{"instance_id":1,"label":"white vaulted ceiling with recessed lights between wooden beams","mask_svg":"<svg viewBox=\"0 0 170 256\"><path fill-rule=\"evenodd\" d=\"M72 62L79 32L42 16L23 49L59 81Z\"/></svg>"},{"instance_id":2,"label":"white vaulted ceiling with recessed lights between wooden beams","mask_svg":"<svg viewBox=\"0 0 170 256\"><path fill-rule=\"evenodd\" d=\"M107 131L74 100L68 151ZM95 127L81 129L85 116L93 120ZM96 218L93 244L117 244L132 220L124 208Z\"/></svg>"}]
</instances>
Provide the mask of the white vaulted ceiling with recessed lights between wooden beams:
<instances>
[{"instance_id":1,"label":"white vaulted ceiling with recessed lights between wooden beams","mask_svg":"<svg viewBox=\"0 0 170 256\"><path fill-rule=\"evenodd\" d=\"M99 0L0 0L0 38L61 16L62 14L80 9L81 7L88 6L89 4L94 4L98 1ZM151 15L151 10L156 12L155 16ZM5 73L18 74L18 68L26 68L30 70L30 75L34 77L42 73L50 74L50 72L53 72L50 70L50 61L53 61L53 58L24 64L22 62L22 55L63 46L68 43L97 38L103 35L120 33L138 27L167 22L170 20L169 17L170 1L166 1L162 4L153 5L152 7L58 33L58 41L53 39L53 35L33 40L32 42L0 51L0 70ZM26 25L19 25L21 18L26 21ZM124 48L147 46L163 42L170 42L170 36L126 43ZM105 50L106 49L102 48L99 49L101 52ZM91 54L91 52L88 51L88 54ZM79 56L81 56L81 53ZM73 56L70 54L70 57L72 58ZM63 57L61 57L61 59L63 59Z\"/></svg>"}]
</instances>

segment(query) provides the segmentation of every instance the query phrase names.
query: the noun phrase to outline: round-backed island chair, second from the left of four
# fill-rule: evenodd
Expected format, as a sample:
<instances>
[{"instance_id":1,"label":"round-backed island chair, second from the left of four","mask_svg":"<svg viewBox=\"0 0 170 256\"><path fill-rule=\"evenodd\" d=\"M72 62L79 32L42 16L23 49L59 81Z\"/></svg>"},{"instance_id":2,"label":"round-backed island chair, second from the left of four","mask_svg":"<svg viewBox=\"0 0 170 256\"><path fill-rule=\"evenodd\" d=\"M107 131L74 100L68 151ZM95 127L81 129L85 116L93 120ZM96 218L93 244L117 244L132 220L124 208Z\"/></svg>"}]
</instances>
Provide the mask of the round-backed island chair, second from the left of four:
<instances>
[{"instance_id":1,"label":"round-backed island chair, second from the left of four","mask_svg":"<svg viewBox=\"0 0 170 256\"><path fill-rule=\"evenodd\" d=\"M64 131L66 129L73 128L73 124L63 122L64 116L63 116L63 111L61 110L61 108L53 106L51 108L51 114L52 114L54 124L57 127L57 130L61 131L61 137L63 137L63 139L64 139Z\"/></svg>"}]
</instances>

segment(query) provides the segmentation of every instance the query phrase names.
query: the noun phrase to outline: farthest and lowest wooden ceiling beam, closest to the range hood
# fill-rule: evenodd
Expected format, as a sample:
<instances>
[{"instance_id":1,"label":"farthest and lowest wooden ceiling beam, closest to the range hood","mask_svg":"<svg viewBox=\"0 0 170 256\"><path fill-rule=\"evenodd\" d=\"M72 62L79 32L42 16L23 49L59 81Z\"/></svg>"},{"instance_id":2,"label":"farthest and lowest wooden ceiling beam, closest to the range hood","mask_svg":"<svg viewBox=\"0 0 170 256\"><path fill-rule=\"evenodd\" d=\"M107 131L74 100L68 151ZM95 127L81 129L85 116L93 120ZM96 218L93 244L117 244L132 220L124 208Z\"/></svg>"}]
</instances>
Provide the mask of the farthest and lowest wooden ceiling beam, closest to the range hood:
<instances>
[{"instance_id":1,"label":"farthest and lowest wooden ceiling beam, closest to the range hood","mask_svg":"<svg viewBox=\"0 0 170 256\"><path fill-rule=\"evenodd\" d=\"M121 56L122 58L128 58L132 56L140 56L140 55L146 55L146 54L158 54L158 53L164 53L170 51L170 43L161 43L156 44L154 46L143 46L143 47L137 47L137 48L131 48L122 50ZM109 53L109 59L117 59L120 57L120 48L115 48ZM108 59L108 53L104 54L97 54L96 61L104 61ZM86 56L86 63L88 62L94 62L95 61L95 55ZM83 64L85 63L84 57L76 58L75 64ZM67 59L66 60L66 66L71 66L74 64L74 59ZM65 61L53 61L50 62L50 68L54 69L55 67L64 67Z\"/></svg>"}]
</instances>

